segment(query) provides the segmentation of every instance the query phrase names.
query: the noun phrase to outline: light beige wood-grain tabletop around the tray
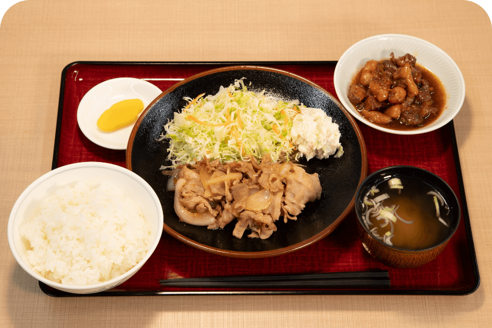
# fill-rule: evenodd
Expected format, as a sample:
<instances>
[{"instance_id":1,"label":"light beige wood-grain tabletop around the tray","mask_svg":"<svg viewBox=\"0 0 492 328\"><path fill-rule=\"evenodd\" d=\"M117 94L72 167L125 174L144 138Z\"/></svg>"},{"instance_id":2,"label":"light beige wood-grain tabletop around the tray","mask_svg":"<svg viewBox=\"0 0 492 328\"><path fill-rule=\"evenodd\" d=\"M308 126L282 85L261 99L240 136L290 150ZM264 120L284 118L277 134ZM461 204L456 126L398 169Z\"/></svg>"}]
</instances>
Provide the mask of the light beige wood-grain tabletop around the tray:
<instances>
[{"instance_id":1,"label":"light beige wood-grain tabletop around the tray","mask_svg":"<svg viewBox=\"0 0 492 328\"><path fill-rule=\"evenodd\" d=\"M377 34L425 39L460 67L454 120L481 284L468 296L53 298L16 263L7 220L51 169L74 61L336 61ZM465 0L26 0L0 25L1 327L491 327L492 25ZM484 80L485 79L485 80Z\"/></svg>"}]
</instances>

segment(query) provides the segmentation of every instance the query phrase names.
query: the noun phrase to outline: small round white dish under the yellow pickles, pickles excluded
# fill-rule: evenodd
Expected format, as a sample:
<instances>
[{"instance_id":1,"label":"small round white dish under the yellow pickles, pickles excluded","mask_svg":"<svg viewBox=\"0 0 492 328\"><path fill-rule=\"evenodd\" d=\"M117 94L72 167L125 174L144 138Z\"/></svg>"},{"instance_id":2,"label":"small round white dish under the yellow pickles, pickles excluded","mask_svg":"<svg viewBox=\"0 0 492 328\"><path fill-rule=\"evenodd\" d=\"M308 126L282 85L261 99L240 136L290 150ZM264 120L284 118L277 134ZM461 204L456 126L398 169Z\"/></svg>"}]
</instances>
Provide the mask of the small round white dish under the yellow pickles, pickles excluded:
<instances>
[{"instance_id":1,"label":"small round white dish under the yellow pickles, pickles excluded","mask_svg":"<svg viewBox=\"0 0 492 328\"><path fill-rule=\"evenodd\" d=\"M162 93L154 84L134 78L107 80L91 88L77 109L77 122L82 133L94 144L109 149L126 149L133 125L112 132L97 127L97 119L115 103L126 99L140 99L144 109ZM142 111L143 112L143 111Z\"/></svg>"}]
</instances>

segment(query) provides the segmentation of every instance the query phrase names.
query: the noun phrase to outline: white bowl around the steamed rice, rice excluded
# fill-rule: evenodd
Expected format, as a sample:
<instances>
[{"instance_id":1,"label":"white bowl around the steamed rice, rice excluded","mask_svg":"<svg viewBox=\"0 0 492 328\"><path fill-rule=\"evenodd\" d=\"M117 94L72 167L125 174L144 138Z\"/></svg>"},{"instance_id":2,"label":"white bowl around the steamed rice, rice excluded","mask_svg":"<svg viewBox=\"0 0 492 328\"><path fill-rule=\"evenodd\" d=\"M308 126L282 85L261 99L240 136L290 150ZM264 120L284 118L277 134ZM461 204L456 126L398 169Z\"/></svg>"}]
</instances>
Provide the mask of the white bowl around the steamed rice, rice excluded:
<instances>
[{"instance_id":1,"label":"white bowl around the steamed rice, rice excluded","mask_svg":"<svg viewBox=\"0 0 492 328\"><path fill-rule=\"evenodd\" d=\"M71 286L56 283L38 274L26 258L26 245L19 236L19 227L32 219L39 211L41 200L54 194L55 190L77 182L84 182L89 187L110 183L120 188L125 196L133 198L142 208L144 217L152 228L152 245L145 257L132 269L121 276L98 284ZM19 265L31 276L53 288L76 294L96 293L111 289L133 276L149 259L156 249L163 232L164 215L161 202L152 187L134 172L118 165L85 162L56 168L31 183L15 202L8 218L8 245Z\"/></svg>"}]
</instances>

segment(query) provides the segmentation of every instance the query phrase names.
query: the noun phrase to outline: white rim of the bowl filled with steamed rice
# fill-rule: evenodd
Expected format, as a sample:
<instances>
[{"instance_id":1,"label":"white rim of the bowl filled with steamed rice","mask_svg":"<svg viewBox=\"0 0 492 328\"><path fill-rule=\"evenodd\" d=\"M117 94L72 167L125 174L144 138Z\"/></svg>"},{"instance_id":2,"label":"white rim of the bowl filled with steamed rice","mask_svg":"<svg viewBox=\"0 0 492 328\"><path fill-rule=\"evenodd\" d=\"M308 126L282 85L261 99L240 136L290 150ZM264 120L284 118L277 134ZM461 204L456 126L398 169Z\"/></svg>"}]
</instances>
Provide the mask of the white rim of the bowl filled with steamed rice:
<instances>
[{"instance_id":1,"label":"white rim of the bowl filled with steamed rice","mask_svg":"<svg viewBox=\"0 0 492 328\"><path fill-rule=\"evenodd\" d=\"M161 240L161 236L163 233L162 229L157 229L157 231L156 231L157 235L156 235L155 240L152 242L152 244L149 247L149 249L147 250L147 253L145 254L145 256L134 267L132 267L130 270L128 270L127 272L123 273L122 275L120 275L118 277L115 277L115 278L107 280L107 281L99 282L96 284L89 284L89 285L66 285L66 284L62 284L62 283L55 282L55 281L49 280L49 279L41 276L39 273L34 271L33 268L31 268L29 265L27 265L22 260L22 258L20 257L20 254L19 254L19 252L15 246L14 236L13 236L13 225L14 225L14 221L15 221L15 218L17 216L17 212L19 210L19 207L21 206L21 204L23 203L25 198L42 182L52 178L53 176L55 176L59 173L62 173L62 172L68 171L68 170L72 170L72 169L87 168L87 167L92 167L95 169L99 169L99 168L113 169L113 170L116 170L116 171L118 171L124 175L127 175L130 178L133 178L134 180L136 180L137 182L142 184L142 186L152 196L152 199L154 200L154 202L156 202L156 204L158 205L158 206L156 206L156 208L158 210L158 216L159 216L158 217L158 226L160 226L161 224L164 224L164 214L163 214L163 210L161 207L161 202L159 201L159 197L157 197L157 194L154 191L154 189L147 183L147 181L145 181L138 174L136 174L136 173L134 173L134 172L122 167L122 166L110 164L110 163L103 163L103 162L80 162L80 163L68 164L68 165L57 167L57 168L41 175L40 177L38 177L36 180L34 180L32 183L30 183L22 191L22 193L19 195L19 197L15 201L15 203L12 207L12 210L10 211L10 214L8 217L8 223L7 223L8 245L10 246L10 250L11 250L13 256L15 257L15 260L20 265L20 267L22 267L22 269L24 269L24 271L26 271L33 278L35 278L35 279L37 279L37 280L39 280L39 281L41 281L41 282L43 282L49 286L52 286L56 289L65 290L65 291L70 291L70 290L84 291L84 290L90 290L90 289L98 289L97 291L100 291L101 289L104 289L104 287L107 287L109 285L118 284L118 282L120 282L120 281L123 282L127 278L131 277L135 272L137 272L144 265L144 263L149 259L149 257L152 255L154 250L157 248L157 245L159 244L159 241Z\"/></svg>"}]
</instances>

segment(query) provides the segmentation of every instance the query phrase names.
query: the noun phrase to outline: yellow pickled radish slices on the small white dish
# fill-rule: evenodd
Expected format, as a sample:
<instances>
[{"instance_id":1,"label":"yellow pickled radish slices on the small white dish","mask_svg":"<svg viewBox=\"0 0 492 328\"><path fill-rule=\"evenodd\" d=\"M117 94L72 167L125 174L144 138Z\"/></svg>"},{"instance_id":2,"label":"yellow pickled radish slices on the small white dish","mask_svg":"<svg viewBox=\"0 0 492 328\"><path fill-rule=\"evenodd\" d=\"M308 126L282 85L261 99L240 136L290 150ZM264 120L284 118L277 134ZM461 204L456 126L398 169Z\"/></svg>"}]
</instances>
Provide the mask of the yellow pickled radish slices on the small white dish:
<instances>
[{"instance_id":1,"label":"yellow pickled radish slices on the small white dish","mask_svg":"<svg viewBox=\"0 0 492 328\"><path fill-rule=\"evenodd\" d=\"M123 128L133 123L143 109L144 103L140 99L119 101L101 114L97 126L106 132Z\"/></svg>"}]
</instances>

